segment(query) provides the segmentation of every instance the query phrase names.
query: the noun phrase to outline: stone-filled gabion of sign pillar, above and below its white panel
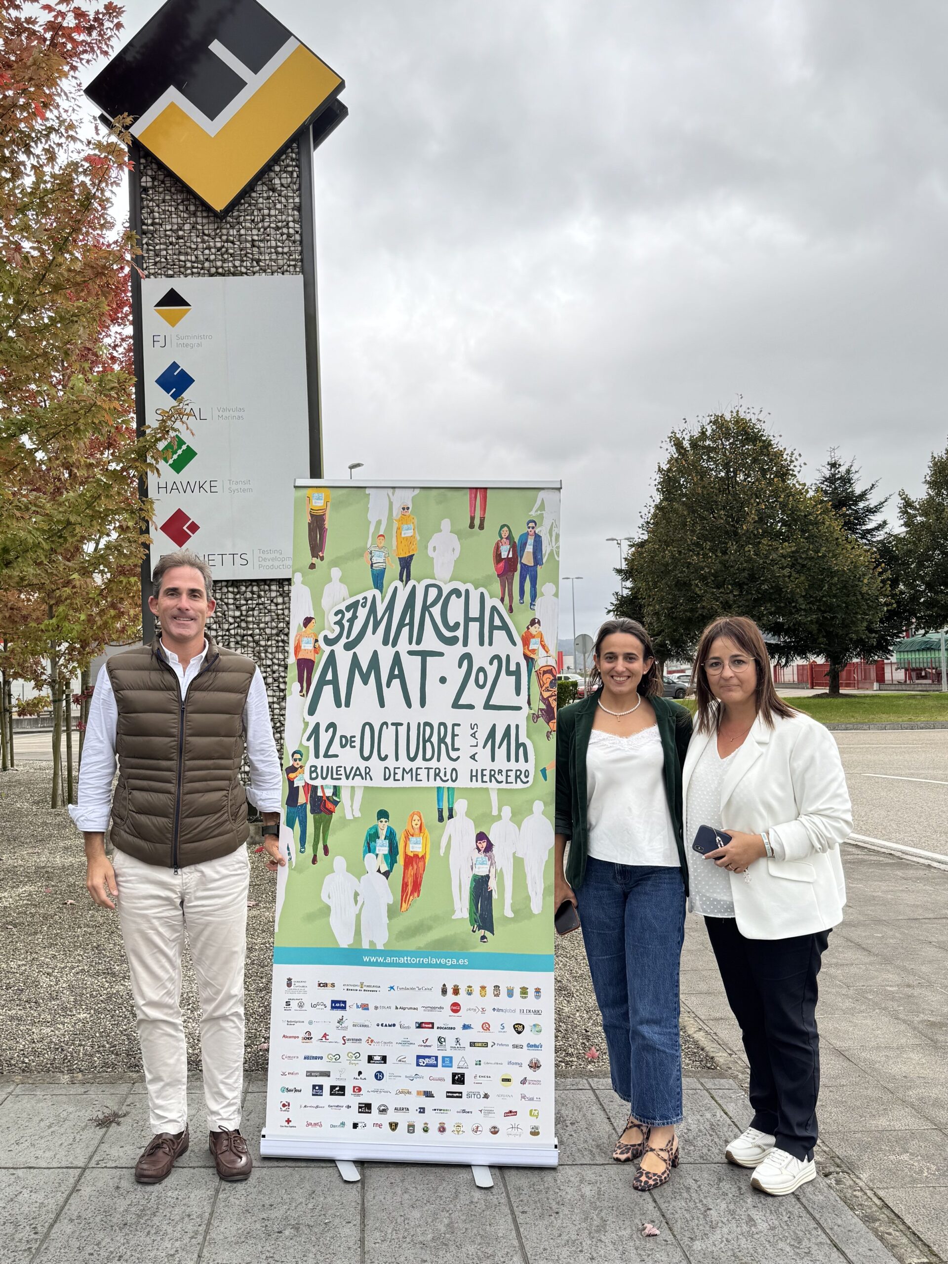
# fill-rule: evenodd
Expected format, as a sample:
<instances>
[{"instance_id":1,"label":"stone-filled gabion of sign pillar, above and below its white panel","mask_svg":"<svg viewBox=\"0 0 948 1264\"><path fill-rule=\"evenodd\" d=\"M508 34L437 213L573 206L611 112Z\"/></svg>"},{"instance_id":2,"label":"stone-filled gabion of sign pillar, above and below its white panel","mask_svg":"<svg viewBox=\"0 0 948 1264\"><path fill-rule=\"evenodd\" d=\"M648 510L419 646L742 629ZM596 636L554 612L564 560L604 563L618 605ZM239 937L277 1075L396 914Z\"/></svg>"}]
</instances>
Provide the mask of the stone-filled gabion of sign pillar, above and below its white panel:
<instances>
[{"instance_id":1,"label":"stone-filled gabion of sign pillar, above and below its white panel","mask_svg":"<svg viewBox=\"0 0 948 1264\"><path fill-rule=\"evenodd\" d=\"M142 258L147 277L302 273L300 159L287 149L226 219L209 211L148 154L140 155ZM219 645L257 662L282 751L289 636L289 579L215 580L209 624ZM246 770L245 770L246 771Z\"/></svg>"}]
</instances>

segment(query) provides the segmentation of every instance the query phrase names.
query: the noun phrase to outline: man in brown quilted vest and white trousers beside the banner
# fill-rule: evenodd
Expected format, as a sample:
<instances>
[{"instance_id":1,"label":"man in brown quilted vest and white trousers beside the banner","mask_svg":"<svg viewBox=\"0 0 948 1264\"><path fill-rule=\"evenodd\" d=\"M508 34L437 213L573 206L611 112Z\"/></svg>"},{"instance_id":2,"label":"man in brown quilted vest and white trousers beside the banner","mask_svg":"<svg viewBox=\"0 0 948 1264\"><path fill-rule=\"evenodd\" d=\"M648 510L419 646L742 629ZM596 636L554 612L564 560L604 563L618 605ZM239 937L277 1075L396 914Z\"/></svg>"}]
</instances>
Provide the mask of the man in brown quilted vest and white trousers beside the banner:
<instances>
[{"instance_id":1,"label":"man in brown quilted vest and white trousers beside the banner","mask_svg":"<svg viewBox=\"0 0 948 1264\"><path fill-rule=\"evenodd\" d=\"M205 637L211 571L190 550L166 554L148 604L161 636L116 653L96 681L73 820L85 834L86 887L114 909L131 978L153 1138L135 1167L163 1181L188 1148L181 956L187 935L201 996L209 1145L225 1181L250 1176L240 1135L244 953L250 860L240 762L279 851L282 774L267 690L254 664ZM119 782L111 785L118 761ZM112 861L104 834L111 811Z\"/></svg>"}]
</instances>

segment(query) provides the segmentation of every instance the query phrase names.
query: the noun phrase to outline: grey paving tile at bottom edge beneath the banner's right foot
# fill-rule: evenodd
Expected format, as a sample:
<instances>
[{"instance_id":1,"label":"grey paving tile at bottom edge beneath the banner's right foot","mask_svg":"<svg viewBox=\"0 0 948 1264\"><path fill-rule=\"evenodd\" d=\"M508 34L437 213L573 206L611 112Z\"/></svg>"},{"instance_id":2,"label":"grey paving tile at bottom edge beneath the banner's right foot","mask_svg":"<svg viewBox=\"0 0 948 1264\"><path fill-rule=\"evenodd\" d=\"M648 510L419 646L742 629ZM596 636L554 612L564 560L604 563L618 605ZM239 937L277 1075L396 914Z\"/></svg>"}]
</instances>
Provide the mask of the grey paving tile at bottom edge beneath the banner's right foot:
<instances>
[{"instance_id":1,"label":"grey paving tile at bottom edge beneath the banner's right foot","mask_svg":"<svg viewBox=\"0 0 948 1264\"><path fill-rule=\"evenodd\" d=\"M363 1183L365 1264L521 1264L495 1172L478 1189L470 1168L367 1163Z\"/></svg>"}]
</instances>

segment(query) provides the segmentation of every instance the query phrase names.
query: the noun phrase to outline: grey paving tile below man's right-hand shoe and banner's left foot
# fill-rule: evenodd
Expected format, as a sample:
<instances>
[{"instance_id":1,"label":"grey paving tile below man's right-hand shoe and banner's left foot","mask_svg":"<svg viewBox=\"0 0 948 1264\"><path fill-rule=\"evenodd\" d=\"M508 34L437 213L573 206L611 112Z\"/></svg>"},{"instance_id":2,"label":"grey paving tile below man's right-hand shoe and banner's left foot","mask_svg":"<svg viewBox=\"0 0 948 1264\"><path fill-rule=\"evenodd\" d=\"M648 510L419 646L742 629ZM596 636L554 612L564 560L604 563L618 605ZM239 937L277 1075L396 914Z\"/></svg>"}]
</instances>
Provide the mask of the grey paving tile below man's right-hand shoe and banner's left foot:
<instances>
[{"instance_id":1,"label":"grey paving tile below man's right-hand shoe and banner's left foot","mask_svg":"<svg viewBox=\"0 0 948 1264\"><path fill-rule=\"evenodd\" d=\"M322 1165L221 1182L201 1264L358 1264L358 1184Z\"/></svg>"}]
</instances>

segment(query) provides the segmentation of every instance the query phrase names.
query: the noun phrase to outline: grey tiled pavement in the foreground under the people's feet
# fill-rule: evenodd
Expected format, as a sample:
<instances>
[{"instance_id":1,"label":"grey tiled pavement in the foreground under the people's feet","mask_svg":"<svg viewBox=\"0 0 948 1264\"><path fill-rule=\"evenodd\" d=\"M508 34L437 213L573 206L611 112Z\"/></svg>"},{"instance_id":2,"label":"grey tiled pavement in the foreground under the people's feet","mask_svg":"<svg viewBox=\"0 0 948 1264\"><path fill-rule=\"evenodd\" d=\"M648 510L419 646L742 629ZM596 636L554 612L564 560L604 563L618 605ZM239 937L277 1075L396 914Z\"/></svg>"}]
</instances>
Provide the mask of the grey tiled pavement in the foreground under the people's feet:
<instances>
[{"instance_id":1,"label":"grey tiled pavement in the foreground under the people's feet","mask_svg":"<svg viewBox=\"0 0 948 1264\"><path fill-rule=\"evenodd\" d=\"M719 1077L685 1082L681 1167L653 1196L609 1159L624 1109L602 1079L557 1085L560 1168L494 1169L493 1189L469 1168L360 1164L345 1184L330 1163L287 1159L224 1184L200 1087L191 1096L191 1149L155 1187L131 1173L147 1139L140 1083L0 1085L3 1264L892 1264L824 1179L770 1198L723 1160L747 1103ZM252 1082L255 1160L264 1101ZM105 1109L128 1115L97 1127Z\"/></svg>"}]
</instances>

